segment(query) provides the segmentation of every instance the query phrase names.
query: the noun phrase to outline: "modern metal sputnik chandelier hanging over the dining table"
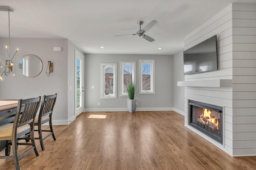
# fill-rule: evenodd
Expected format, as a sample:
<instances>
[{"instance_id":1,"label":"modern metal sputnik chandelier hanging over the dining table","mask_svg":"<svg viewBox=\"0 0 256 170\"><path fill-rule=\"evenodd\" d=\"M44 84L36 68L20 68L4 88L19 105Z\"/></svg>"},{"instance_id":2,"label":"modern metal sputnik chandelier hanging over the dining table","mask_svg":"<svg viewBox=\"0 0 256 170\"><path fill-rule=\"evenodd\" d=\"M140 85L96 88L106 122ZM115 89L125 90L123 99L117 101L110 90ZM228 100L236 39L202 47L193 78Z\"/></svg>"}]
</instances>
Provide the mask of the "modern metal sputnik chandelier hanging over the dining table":
<instances>
[{"instance_id":1,"label":"modern metal sputnik chandelier hanging over the dining table","mask_svg":"<svg viewBox=\"0 0 256 170\"><path fill-rule=\"evenodd\" d=\"M14 55L10 57L10 12L14 12L14 10L10 6L0 6L0 11L8 11L8 21L9 21L9 46L7 45L5 46L7 58L5 61L3 61L0 58L0 67L4 68L4 70L0 74L0 80L3 80L2 78L3 74L5 74L6 76L8 76L9 73L12 73L12 75L15 75L12 72L12 66L13 66L12 59L16 55L19 49L17 49ZM3 66L1 64L3 64Z\"/></svg>"}]
</instances>

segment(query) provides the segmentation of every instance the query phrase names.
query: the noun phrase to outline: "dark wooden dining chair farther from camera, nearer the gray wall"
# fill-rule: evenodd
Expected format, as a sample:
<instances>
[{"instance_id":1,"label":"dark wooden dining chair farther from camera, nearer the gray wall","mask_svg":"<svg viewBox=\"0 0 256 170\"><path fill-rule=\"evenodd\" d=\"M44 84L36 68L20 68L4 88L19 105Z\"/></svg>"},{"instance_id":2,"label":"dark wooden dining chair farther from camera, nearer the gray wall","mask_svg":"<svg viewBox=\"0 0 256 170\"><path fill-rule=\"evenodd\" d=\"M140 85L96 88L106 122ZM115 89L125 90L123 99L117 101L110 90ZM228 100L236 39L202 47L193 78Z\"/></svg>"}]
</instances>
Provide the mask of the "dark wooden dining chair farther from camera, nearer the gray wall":
<instances>
[{"instance_id":1,"label":"dark wooden dining chair farther from camera, nearer the gray wall","mask_svg":"<svg viewBox=\"0 0 256 170\"><path fill-rule=\"evenodd\" d=\"M52 129L52 110L55 105L56 98L57 98L57 94L53 94L49 96L44 95L42 98L42 104L41 104L39 115L36 115L35 126L38 126L38 129L36 129L35 131L38 131L39 137L35 139L40 140L42 150L44 150L44 143L43 143L44 139L48 138L50 135L52 135L54 141L56 141L56 138L54 136L53 129ZM46 122L49 122L50 130L42 130L42 124ZM45 137L42 137L42 132L50 132L50 133Z\"/></svg>"}]
</instances>

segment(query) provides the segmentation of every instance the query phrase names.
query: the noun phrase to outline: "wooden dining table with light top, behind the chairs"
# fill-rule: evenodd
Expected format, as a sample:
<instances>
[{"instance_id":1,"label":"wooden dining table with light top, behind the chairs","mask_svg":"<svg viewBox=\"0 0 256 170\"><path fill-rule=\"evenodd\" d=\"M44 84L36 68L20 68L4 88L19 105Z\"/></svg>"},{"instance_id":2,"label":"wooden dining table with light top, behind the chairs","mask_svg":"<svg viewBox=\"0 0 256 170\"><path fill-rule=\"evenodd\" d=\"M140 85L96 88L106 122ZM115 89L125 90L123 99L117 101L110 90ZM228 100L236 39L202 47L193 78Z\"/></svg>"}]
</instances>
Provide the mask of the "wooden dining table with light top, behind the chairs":
<instances>
[{"instance_id":1,"label":"wooden dining table with light top, behind the chairs","mask_svg":"<svg viewBox=\"0 0 256 170\"><path fill-rule=\"evenodd\" d=\"M14 121L18 106L18 100L6 99L0 100L0 125L11 123ZM10 154L10 145L5 148L5 141L0 141L0 151L5 149L5 154Z\"/></svg>"}]
</instances>

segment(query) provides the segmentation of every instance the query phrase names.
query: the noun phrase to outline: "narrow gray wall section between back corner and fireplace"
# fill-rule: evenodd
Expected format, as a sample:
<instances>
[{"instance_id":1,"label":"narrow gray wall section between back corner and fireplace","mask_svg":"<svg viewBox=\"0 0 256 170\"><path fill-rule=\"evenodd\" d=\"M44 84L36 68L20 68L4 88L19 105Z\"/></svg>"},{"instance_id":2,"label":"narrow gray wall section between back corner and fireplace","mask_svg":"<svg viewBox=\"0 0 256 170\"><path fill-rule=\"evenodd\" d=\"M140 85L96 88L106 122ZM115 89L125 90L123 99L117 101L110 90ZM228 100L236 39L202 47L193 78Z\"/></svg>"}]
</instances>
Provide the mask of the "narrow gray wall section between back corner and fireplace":
<instances>
[{"instance_id":1,"label":"narrow gray wall section between back corner and fireplace","mask_svg":"<svg viewBox=\"0 0 256 170\"><path fill-rule=\"evenodd\" d=\"M173 56L173 107L184 115L185 94L184 87L177 86L178 81L184 81L183 51Z\"/></svg>"}]
</instances>

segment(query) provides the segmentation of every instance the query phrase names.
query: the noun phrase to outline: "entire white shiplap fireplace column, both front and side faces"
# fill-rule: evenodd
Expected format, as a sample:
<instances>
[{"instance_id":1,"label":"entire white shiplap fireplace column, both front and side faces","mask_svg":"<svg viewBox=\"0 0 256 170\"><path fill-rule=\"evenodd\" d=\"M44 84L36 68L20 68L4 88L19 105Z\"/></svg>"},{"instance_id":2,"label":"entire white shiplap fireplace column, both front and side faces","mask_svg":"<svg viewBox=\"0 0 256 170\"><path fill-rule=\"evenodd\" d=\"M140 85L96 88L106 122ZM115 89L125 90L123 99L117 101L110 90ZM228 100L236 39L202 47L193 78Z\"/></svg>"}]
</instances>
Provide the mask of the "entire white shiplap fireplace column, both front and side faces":
<instances>
[{"instance_id":1,"label":"entire white shiplap fireplace column, both front and side faces","mask_svg":"<svg viewBox=\"0 0 256 170\"><path fill-rule=\"evenodd\" d=\"M223 107L223 145L194 130L232 156L256 155L256 4L230 4L185 37L185 50L217 35L218 70L185 75L185 81L232 79L232 87L185 87L188 100Z\"/></svg>"}]
</instances>

